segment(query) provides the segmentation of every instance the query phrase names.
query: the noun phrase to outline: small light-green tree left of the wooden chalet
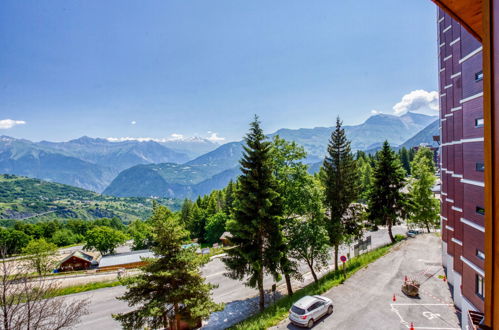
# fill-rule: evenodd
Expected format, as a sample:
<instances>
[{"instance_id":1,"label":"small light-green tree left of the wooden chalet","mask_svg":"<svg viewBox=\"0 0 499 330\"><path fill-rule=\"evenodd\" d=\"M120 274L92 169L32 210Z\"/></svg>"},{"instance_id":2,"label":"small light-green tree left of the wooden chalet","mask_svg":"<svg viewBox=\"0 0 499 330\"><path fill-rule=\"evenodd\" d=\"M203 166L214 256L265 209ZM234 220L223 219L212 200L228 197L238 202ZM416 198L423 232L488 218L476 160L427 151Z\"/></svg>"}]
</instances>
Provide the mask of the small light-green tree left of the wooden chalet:
<instances>
[{"instance_id":1,"label":"small light-green tree left of the wooden chalet","mask_svg":"<svg viewBox=\"0 0 499 330\"><path fill-rule=\"evenodd\" d=\"M50 273L56 265L55 252L57 246L54 243L49 243L45 239L40 238L32 240L23 249L23 254L26 255L26 260L32 269L38 275Z\"/></svg>"}]
</instances>

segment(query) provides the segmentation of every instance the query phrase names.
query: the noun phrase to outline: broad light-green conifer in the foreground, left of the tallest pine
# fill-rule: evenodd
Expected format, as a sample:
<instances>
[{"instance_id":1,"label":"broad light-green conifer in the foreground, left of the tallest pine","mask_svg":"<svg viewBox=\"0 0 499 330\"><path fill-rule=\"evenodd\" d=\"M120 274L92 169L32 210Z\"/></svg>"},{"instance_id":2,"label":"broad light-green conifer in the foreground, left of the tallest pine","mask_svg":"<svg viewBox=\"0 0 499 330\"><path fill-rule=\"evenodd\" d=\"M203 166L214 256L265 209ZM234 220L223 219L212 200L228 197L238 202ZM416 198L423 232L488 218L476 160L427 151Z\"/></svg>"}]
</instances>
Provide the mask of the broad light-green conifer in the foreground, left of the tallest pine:
<instances>
[{"instance_id":1,"label":"broad light-green conifer in the foreground, left of the tallest pine","mask_svg":"<svg viewBox=\"0 0 499 330\"><path fill-rule=\"evenodd\" d=\"M149 259L139 275L125 280L127 292L118 299L136 309L113 317L125 329L180 329L180 320L194 325L221 309L211 299L214 286L201 276L207 259L193 248L182 248L189 232L178 217L164 206L155 206L150 222L157 258Z\"/></svg>"}]
</instances>

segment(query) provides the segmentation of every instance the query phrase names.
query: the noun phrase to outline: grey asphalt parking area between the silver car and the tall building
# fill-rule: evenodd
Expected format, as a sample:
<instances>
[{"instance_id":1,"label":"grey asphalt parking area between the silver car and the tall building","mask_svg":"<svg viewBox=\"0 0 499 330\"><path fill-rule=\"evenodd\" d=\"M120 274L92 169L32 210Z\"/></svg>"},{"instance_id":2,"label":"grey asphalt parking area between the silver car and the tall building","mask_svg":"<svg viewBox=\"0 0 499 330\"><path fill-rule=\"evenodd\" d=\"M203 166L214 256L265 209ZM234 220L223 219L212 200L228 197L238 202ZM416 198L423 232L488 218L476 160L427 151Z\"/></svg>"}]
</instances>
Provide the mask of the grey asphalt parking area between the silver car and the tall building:
<instances>
[{"instance_id":1,"label":"grey asphalt parking area between the silver car and the tall building","mask_svg":"<svg viewBox=\"0 0 499 330\"><path fill-rule=\"evenodd\" d=\"M332 299L334 312L314 329L409 329L411 322L416 329L460 329L447 283L438 277L440 243L434 234L408 239L323 294ZM422 283L419 298L401 292L405 276ZM300 328L285 320L272 329Z\"/></svg>"}]
</instances>

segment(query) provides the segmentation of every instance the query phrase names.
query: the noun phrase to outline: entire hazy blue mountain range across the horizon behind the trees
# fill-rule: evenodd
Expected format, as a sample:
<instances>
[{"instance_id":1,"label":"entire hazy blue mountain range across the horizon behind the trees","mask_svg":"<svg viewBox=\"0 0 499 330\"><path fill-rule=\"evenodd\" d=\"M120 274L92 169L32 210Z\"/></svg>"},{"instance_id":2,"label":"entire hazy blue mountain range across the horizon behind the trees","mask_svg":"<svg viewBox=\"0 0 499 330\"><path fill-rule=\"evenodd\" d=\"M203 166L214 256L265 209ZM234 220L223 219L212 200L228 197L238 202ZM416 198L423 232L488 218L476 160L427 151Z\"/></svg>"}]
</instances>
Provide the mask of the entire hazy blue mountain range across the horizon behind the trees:
<instances>
[{"instance_id":1,"label":"entire hazy blue mountain range across the horizon behind the trees","mask_svg":"<svg viewBox=\"0 0 499 330\"><path fill-rule=\"evenodd\" d=\"M431 143L432 135L438 135L436 117L411 112L402 116L377 114L360 125L344 128L353 151L373 149L385 139L394 147ZM317 164L324 157L333 129L280 129L269 137L279 135L297 142L308 153L306 162ZM242 142L218 145L207 140L110 141L90 137L68 142L31 142L2 136L0 173L120 197L192 198L223 188L236 178L242 150Z\"/></svg>"}]
</instances>

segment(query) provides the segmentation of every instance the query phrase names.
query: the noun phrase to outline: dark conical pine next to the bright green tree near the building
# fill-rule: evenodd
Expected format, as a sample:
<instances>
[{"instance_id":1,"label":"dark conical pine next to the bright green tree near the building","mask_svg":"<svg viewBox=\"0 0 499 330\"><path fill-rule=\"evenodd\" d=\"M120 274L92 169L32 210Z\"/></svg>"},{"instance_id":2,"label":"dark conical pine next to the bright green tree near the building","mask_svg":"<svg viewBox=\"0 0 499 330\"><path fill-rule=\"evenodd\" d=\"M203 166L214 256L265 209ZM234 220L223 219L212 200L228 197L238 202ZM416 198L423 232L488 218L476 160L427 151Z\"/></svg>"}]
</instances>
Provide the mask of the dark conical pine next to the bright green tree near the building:
<instances>
[{"instance_id":1,"label":"dark conical pine next to the bright green tree near the building","mask_svg":"<svg viewBox=\"0 0 499 330\"><path fill-rule=\"evenodd\" d=\"M387 226L392 243L395 242L392 226L406 212L407 198L402 192L404 186L405 172L400 159L385 141L383 148L377 152L373 185L369 191L369 220L374 225Z\"/></svg>"}]
</instances>

